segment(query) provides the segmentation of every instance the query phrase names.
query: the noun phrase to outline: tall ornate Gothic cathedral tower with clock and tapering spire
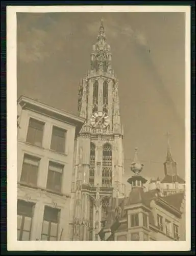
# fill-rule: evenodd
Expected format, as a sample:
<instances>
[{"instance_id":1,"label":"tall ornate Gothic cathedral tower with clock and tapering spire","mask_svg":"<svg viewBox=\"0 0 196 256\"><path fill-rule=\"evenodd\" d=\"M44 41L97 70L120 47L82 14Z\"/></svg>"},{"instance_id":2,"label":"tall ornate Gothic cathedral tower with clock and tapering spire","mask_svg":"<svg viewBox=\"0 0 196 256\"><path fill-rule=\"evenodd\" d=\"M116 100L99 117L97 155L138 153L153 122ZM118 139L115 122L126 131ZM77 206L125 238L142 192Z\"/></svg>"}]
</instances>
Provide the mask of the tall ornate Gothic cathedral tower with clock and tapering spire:
<instances>
[{"instance_id":1,"label":"tall ornate Gothic cathedral tower with clock and tapering spire","mask_svg":"<svg viewBox=\"0 0 196 256\"><path fill-rule=\"evenodd\" d=\"M99 240L112 197L125 194L118 80L101 23L90 70L79 86L78 115L85 118L75 146L70 237Z\"/></svg>"}]
</instances>

